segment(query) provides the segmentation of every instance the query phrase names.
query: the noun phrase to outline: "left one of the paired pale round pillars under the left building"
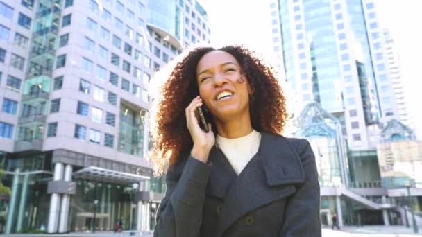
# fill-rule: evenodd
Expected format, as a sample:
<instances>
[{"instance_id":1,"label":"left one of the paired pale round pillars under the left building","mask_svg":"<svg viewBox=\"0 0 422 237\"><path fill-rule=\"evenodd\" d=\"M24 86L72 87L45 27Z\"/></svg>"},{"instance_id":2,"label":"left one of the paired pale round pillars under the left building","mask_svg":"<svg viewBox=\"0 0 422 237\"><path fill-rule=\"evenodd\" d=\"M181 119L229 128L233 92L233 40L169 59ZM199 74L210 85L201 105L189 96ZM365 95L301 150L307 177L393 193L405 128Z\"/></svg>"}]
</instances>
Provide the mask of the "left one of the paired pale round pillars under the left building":
<instances>
[{"instance_id":1,"label":"left one of the paired pale round pillars under the left building","mask_svg":"<svg viewBox=\"0 0 422 237\"><path fill-rule=\"evenodd\" d=\"M54 181L59 181L63 177L63 164L56 163L54 165ZM60 207L60 194L52 193L51 200L50 200L50 212L49 212L49 225L47 227L48 233L56 233L58 227L58 213Z\"/></svg>"}]
</instances>

